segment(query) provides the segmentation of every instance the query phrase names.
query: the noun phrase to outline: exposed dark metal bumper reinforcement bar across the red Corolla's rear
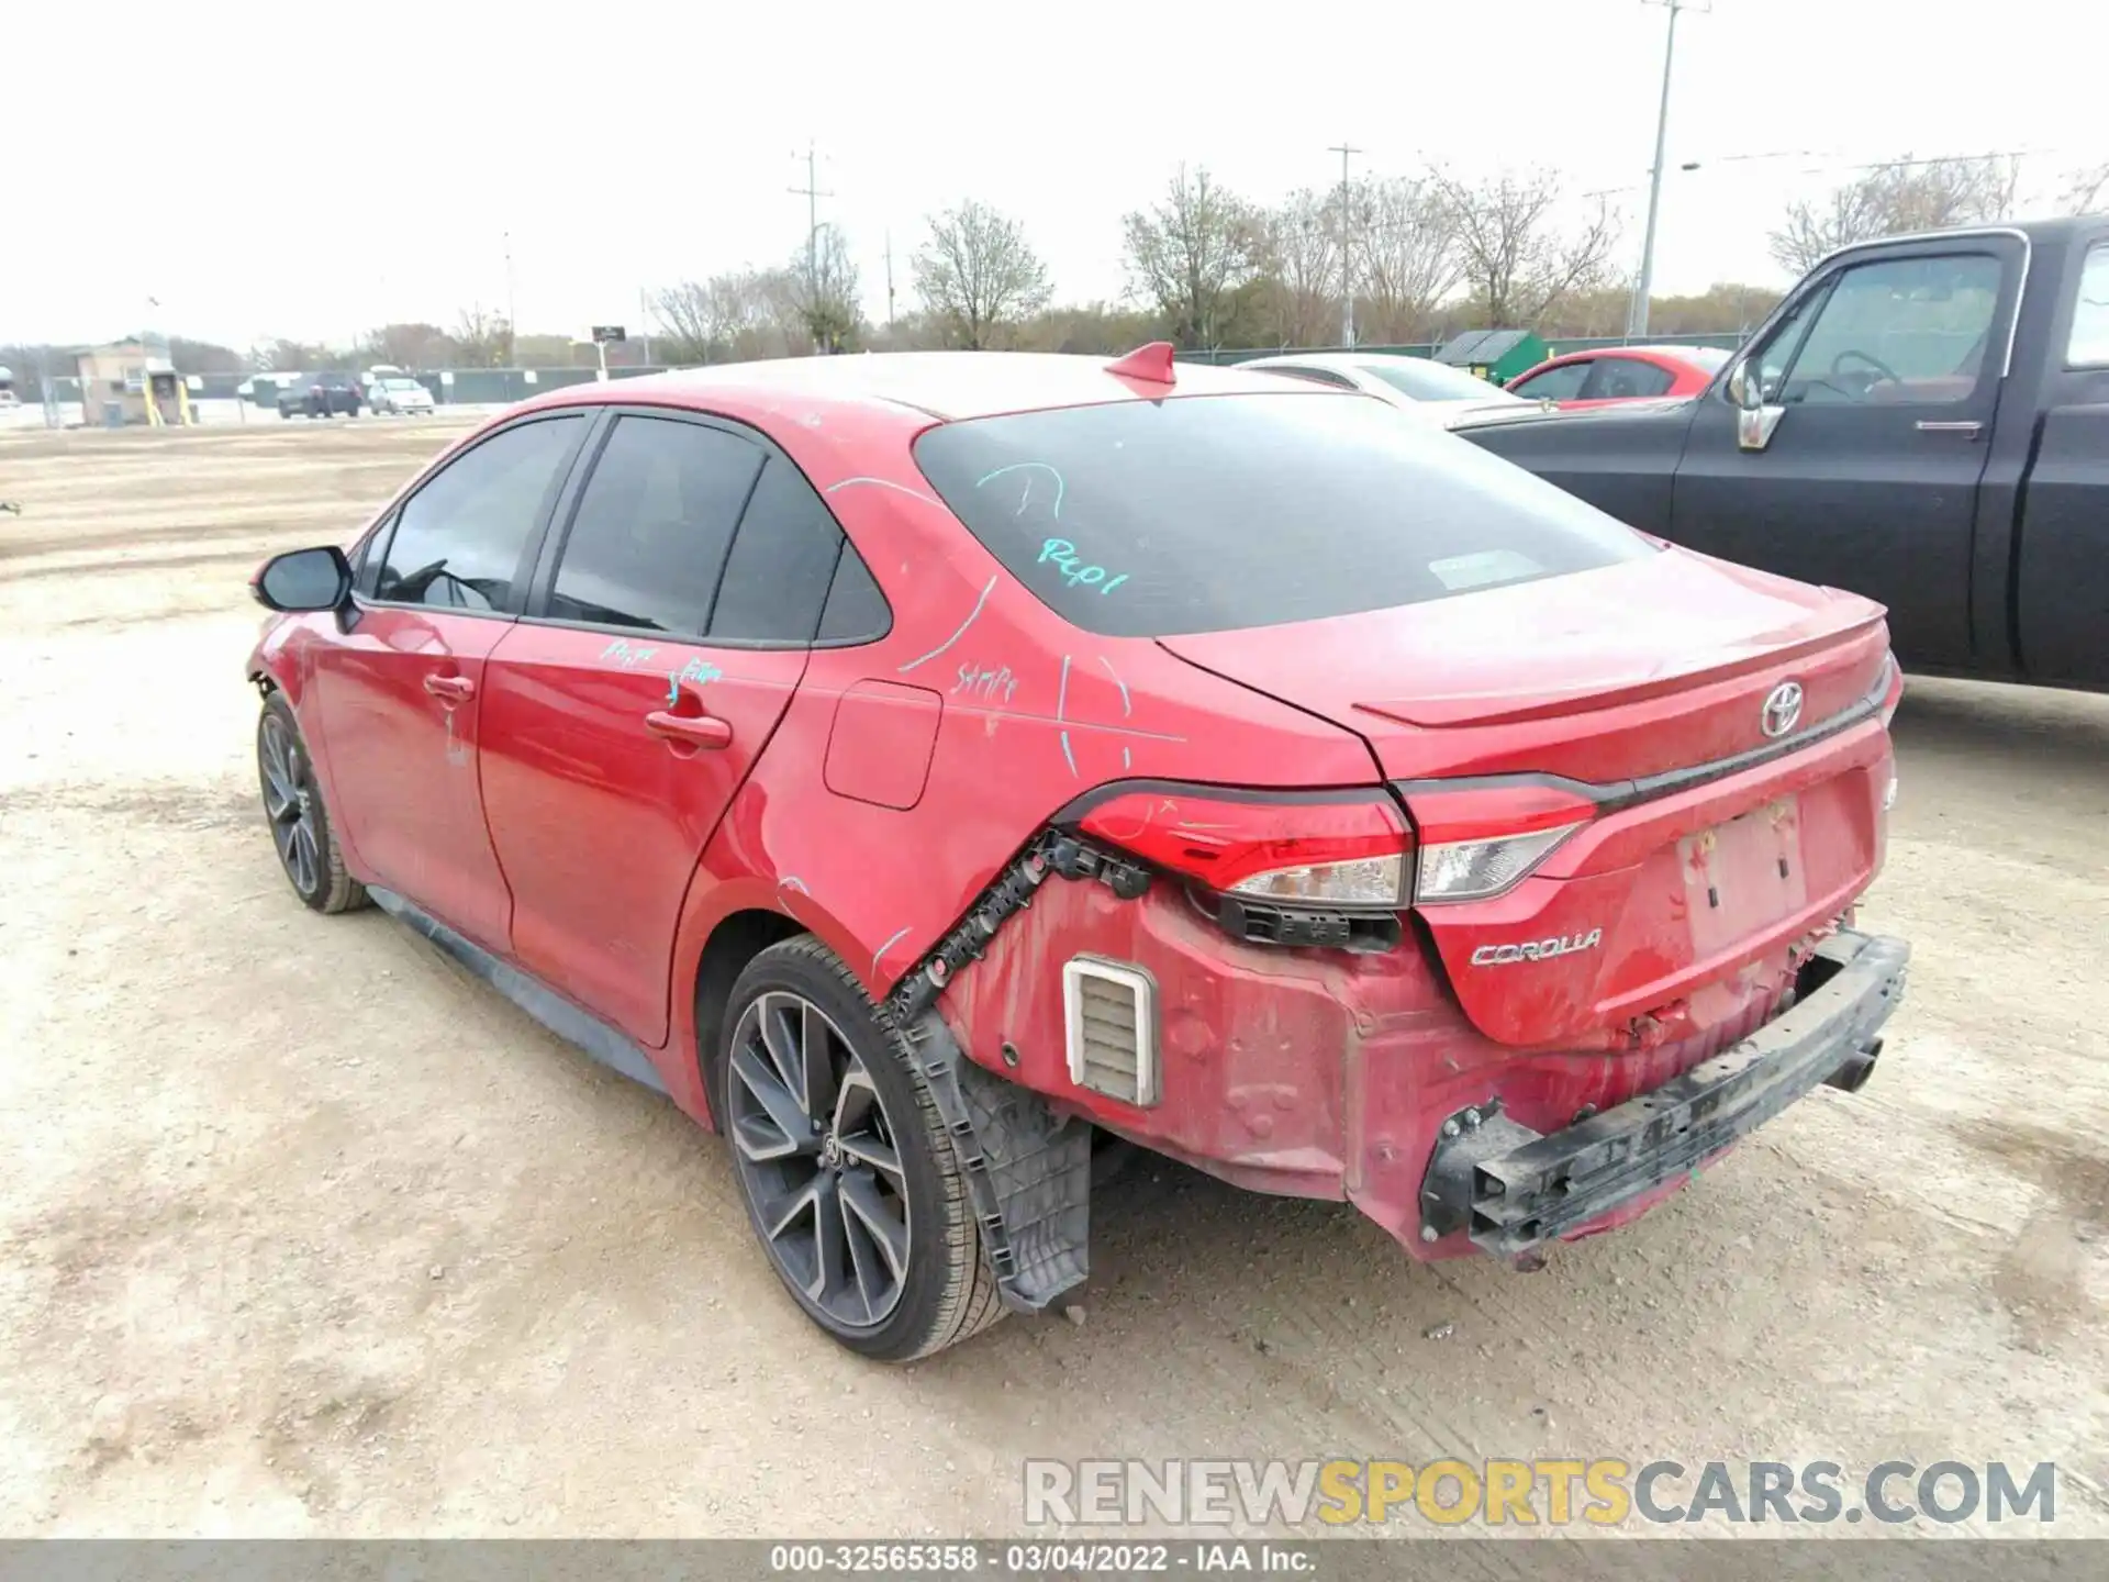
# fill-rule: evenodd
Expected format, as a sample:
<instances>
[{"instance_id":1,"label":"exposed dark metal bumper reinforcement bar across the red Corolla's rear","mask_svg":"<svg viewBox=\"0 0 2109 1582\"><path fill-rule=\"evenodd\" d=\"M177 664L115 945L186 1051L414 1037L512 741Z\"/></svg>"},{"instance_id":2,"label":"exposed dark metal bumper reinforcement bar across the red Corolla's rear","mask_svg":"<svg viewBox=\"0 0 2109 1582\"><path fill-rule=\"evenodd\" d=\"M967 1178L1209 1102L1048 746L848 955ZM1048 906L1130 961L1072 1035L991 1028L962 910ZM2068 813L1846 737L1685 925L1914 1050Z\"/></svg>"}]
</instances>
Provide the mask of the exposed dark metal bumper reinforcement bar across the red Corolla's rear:
<instances>
[{"instance_id":1,"label":"exposed dark metal bumper reinforcement bar across the red Corolla's rear","mask_svg":"<svg viewBox=\"0 0 2109 1582\"><path fill-rule=\"evenodd\" d=\"M1653 1093L1565 1131L1533 1133L1497 1114L1499 1105L1453 1116L1421 1181L1424 1240L1470 1230L1483 1251L1523 1257L1689 1175L1810 1088L1856 1091L1902 998L1909 956L1900 939L1833 934L1803 968L1791 1010Z\"/></svg>"}]
</instances>

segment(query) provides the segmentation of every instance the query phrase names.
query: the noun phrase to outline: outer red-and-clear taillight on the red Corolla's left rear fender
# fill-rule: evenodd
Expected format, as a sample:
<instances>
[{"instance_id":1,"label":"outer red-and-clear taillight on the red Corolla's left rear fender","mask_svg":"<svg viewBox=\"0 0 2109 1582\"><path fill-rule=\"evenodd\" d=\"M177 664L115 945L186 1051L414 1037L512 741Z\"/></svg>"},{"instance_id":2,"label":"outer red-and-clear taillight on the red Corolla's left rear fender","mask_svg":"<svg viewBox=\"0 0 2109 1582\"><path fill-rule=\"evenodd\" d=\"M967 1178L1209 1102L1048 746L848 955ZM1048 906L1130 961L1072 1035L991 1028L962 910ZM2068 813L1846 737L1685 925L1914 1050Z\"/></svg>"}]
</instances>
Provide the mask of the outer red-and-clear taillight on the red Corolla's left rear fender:
<instances>
[{"instance_id":1,"label":"outer red-and-clear taillight on the red Corolla's left rear fender","mask_svg":"<svg viewBox=\"0 0 2109 1582\"><path fill-rule=\"evenodd\" d=\"M1211 890L1291 907L1396 909L1413 871L1407 821L1381 791L1122 791L1080 827Z\"/></svg>"}]
</instances>

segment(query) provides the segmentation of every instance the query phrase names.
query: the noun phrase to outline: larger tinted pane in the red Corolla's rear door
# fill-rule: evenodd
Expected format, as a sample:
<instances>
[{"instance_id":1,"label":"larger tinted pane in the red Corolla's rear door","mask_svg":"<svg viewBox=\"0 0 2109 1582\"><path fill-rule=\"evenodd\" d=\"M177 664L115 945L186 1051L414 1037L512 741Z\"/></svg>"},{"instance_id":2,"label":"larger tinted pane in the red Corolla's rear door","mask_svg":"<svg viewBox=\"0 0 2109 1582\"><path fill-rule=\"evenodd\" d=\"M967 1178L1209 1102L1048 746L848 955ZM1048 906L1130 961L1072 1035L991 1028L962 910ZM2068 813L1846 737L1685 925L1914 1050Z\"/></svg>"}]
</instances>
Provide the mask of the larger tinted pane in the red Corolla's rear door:
<instances>
[{"instance_id":1,"label":"larger tinted pane in the red Corolla's rear door","mask_svg":"<svg viewBox=\"0 0 2109 1582\"><path fill-rule=\"evenodd\" d=\"M700 637L759 445L675 418L620 418L563 540L548 614Z\"/></svg>"}]
</instances>

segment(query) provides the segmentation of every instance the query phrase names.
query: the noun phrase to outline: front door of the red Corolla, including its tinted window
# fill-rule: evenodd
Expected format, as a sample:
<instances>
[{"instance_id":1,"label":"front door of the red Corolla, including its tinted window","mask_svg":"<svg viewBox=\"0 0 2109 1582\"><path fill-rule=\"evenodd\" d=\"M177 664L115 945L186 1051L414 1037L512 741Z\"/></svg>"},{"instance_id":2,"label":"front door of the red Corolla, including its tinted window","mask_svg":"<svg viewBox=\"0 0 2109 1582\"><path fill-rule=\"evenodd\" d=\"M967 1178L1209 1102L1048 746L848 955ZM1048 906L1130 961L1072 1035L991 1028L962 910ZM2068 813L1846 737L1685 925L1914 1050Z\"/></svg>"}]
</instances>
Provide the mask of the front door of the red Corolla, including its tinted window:
<instances>
[{"instance_id":1,"label":"front door of the red Corolla, including its tinted window","mask_svg":"<svg viewBox=\"0 0 2109 1582\"><path fill-rule=\"evenodd\" d=\"M485 662L588 426L502 428L420 485L367 551L356 618L314 662L346 844L384 888L494 951L512 903L477 789Z\"/></svg>"}]
</instances>

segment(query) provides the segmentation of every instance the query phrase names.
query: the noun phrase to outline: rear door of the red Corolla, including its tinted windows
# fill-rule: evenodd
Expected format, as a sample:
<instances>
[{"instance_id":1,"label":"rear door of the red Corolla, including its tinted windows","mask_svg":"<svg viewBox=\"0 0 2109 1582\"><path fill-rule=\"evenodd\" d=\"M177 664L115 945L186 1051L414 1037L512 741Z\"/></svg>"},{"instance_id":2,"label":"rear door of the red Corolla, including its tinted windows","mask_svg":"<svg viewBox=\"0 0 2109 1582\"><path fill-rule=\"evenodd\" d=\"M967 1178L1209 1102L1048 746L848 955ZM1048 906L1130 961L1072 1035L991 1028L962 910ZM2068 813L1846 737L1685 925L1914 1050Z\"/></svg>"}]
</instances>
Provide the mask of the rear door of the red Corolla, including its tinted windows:
<instances>
[{"instance_id":1,"label":"rear door of the red Corolla, including its tinted windows","mask_svg":"<svg viewBox=\"0 0 2109 1582\"><path fill-rule=\"evenodd\" d=\"M574 500L494 654L483 795L519 964L660 1046L681 899L844 538L759 435L666 411L620 413Z\"/></svg>"}]
</instances>

